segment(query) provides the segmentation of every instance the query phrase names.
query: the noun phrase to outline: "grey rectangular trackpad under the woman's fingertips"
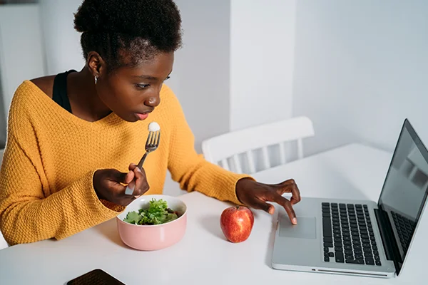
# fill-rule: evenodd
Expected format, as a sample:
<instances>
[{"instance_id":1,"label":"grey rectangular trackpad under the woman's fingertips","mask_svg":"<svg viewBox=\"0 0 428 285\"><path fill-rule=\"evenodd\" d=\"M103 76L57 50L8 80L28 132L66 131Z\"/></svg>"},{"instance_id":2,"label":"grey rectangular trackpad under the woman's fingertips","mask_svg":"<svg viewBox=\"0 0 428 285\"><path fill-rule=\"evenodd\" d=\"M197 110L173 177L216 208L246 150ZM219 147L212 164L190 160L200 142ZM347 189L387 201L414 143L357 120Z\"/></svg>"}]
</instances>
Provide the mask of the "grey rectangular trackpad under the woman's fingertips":
<instances>
[{"instance_id":1,"label":"grey rectangular trackpad under the woman's fingertips","mask_svg":"<svg viewBox=\"0 0 428 285\"><path fill-rule=\"evenodd\" d=\"M297 224L292 224L287 215L280 219L280 237L297 239L315 239L317 223L315 217L297 217Z\"/></svg>"}]
</instances>

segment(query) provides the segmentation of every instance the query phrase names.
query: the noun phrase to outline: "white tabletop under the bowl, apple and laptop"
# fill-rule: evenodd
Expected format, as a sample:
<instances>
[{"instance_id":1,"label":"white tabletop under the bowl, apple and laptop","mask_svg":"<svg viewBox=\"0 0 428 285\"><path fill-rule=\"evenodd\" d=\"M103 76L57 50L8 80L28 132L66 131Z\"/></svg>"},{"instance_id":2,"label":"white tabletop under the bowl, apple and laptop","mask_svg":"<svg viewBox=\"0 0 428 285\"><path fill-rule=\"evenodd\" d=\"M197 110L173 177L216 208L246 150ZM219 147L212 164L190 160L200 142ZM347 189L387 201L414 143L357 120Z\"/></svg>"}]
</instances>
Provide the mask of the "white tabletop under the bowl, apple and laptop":
<instances>
[{"instance_id":1,"label":"white tabletop under the bowl, apple and laptop","mask_svg":"<svg viewBox=\"0 0 428 285\"><path fill-rule=\"evenodd\" d=\"M388 152L347 145L260 172L255 177L261 182L292 177L303 199L312 196L377 200L390 158ZM229 204L198 192L181 198L188 205L188 229L173 247L157 252L130 249L121 242L112 219L61 241L46 240L1 250L0 284L65 284L96 268L126 284L424 283L424 239L428 235L422 227L402 276L394 279L278 271L270 267L275 214L272 217L256 211L250 238L232 244L225 241L219 226L220 214Z\"/></svg>"}]
</instances>

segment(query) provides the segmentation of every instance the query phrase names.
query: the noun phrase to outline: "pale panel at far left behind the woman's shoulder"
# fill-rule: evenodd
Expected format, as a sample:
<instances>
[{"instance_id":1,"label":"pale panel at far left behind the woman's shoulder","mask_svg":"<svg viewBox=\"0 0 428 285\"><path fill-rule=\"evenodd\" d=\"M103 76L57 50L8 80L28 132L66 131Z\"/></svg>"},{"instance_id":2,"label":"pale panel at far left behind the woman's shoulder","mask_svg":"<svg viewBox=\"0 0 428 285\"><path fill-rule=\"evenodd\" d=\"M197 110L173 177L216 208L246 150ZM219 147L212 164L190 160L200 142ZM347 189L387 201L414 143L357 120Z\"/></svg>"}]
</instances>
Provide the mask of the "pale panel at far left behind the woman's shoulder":
<instances>
[{"instance_id":1,"label":"pale panel at far left behind the woman's shoulder","mask_svg":"<svg viewBox=\"0 0 428 285\"><path fill-rule=\"evenodd\" d=\"M36 4L0 5L0 145L11 99L22 81L44 76L44 46Z\"/></svg>"}]
</instances>

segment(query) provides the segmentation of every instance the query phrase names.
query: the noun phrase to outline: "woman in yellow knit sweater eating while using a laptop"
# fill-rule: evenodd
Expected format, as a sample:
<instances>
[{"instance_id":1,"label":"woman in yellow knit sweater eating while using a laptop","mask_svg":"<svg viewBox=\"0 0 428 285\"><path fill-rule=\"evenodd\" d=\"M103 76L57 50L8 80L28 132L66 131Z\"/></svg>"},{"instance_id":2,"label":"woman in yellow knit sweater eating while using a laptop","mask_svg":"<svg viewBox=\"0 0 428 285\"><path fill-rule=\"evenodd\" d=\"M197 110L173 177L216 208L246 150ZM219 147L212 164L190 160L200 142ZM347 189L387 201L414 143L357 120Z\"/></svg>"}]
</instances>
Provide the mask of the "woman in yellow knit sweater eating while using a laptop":
<instances>
[{"instance_id":1,"label":"woman in yellow knit sweater eating while using a laptop","mask_svg":"<svg viewBox=\"0 0 428 285\"><path fill-rule=\"evenodd\" d=\"M270 214L266 202L277 202L296 223L294 181L261 184L195 152L163 84L181 43L172 0L85 0L74 24L85 66L24 81L11 103L0 175L0 229L9 244L63 239L116 217L136 197L161 193L167 169L184 190ZM140 170L131 162L143 155L152 121L161 125L161 144Z\"/></svg>"}]
</instances>

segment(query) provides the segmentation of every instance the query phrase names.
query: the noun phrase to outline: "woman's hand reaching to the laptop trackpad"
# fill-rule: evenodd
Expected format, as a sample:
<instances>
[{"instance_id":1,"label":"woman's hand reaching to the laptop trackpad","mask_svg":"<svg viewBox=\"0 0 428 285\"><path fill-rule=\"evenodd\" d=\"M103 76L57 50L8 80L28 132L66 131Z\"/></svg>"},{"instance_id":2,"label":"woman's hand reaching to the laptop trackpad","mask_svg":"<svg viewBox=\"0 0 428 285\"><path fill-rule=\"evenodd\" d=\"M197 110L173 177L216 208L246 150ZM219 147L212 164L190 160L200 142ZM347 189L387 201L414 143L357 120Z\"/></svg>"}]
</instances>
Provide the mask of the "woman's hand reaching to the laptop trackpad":
<instances>
[{"instance_id":1,"label":"woman's hand reaching to the laptop trackpad","mask_svg":"<svg viewBox=\"0 0 428 285\"><path fill-rule=\"evenodd\" d=\"M288 200L284 193L292 193ZM285 180L279 184L269 185L243 178L236 184L236 195L240 202L254 209L263 209L273 214L275 207L267 202L275 202L284 207L292 224L297 224L296 214L292 205L300 202L300 191L294 180Z\"/></svg>"}]
</instances>

